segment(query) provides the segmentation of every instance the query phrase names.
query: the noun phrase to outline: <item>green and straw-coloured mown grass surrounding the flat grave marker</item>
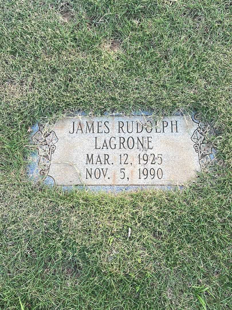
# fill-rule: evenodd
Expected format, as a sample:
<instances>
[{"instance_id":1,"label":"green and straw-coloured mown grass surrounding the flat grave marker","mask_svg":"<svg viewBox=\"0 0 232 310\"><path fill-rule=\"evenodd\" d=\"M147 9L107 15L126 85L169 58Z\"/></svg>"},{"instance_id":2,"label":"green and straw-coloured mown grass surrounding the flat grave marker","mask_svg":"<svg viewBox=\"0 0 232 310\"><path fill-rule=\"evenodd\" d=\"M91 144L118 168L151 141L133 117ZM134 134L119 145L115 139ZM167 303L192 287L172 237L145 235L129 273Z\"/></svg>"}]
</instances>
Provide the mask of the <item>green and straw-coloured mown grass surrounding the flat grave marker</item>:
<instances>
[{"instance_id":1,"label":"green and straw-coloured mown grass surrounding the flat grave marker","mask_svg":"<svg viewBox=\"0 0 232 310\"><path fill-rule=\"evenodd\" d=\"M231 13L229 0L0 3L0 309L232 309ZM28 127L77 109L201 111L217 163L182 191L29 183Z\"/></svg>"}]
</instances>

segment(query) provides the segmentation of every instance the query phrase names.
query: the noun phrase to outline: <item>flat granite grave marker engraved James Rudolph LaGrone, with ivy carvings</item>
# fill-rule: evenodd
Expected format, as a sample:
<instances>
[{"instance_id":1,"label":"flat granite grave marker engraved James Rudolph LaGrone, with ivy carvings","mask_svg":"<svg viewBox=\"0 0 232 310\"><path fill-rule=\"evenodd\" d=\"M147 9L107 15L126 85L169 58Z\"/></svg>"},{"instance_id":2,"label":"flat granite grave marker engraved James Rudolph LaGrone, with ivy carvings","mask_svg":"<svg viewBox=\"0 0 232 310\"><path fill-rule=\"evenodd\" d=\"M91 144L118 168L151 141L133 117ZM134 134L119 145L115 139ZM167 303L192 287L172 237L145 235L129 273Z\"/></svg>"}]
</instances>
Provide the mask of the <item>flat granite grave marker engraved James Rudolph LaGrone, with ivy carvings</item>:
<instances>
[{"instance_id":1,"label":"flat granite grave marker engraved James Rudolph LaGrone, with ivy carvings","mask_svg":"<svg viewBox=\"0 0 232 310\"><path fill-rule=\"evenodd\" d=\"M205 125L190 116L64 117L40 126L40 175L58 185L180 185L210 161Z\"/></svg>"}]
</instances>

